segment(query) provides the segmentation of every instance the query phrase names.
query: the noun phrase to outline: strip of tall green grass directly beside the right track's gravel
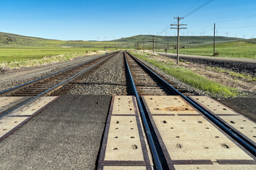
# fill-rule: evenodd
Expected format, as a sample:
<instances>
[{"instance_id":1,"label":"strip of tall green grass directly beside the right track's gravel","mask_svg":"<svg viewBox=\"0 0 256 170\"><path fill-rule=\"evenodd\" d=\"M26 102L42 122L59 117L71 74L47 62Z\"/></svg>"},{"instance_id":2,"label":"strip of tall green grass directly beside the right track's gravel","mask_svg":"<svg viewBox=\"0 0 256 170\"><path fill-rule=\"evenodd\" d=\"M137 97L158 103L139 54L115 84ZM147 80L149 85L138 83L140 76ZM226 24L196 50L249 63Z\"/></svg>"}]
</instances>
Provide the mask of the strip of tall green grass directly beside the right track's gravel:
<instances>
[{"instance_id":1,"label":"strip of tall green grass directly beside the right track's gravel","mask_svg":"<svg viewBox=\"0 0 256 170\"><path fill-rule=\"evenodd\" d=\"M132 52L132 54L156 67L159 67L159 69L163 70L167 74L171 74L173 77L176 77L176 79L179 79L196 89L208 91L213 96L216 96L216 94L225 98L238 96L237 89L224 86L223 84L201 77L200 75L193 73L190 69L176 66L172 62L159 62L153 58L149 58L148 56L139 55L136 52Z\"/></svg>"}]
</instances>

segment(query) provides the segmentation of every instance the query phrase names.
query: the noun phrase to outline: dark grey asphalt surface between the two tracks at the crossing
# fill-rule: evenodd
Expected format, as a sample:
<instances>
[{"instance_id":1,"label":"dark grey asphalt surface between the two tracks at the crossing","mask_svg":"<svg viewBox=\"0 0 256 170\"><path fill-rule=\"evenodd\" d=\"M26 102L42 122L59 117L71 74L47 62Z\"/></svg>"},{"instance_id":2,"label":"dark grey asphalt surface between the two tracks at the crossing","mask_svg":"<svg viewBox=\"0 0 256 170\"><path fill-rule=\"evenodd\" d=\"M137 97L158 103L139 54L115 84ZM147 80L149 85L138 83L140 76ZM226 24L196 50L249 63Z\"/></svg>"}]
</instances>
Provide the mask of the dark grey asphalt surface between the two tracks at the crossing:
<instances>
[{"instance_id":1,"label":"dark grey asphalt surface between the two tracks at the crossing","mask_svg":"<svg viewBox=\"0 0 256 170\"><path fill-rule=\"evenodd\" d=\"M60 96L0 142L0 169L95 169L111 96Z\"/></svg>"}]
</instances>

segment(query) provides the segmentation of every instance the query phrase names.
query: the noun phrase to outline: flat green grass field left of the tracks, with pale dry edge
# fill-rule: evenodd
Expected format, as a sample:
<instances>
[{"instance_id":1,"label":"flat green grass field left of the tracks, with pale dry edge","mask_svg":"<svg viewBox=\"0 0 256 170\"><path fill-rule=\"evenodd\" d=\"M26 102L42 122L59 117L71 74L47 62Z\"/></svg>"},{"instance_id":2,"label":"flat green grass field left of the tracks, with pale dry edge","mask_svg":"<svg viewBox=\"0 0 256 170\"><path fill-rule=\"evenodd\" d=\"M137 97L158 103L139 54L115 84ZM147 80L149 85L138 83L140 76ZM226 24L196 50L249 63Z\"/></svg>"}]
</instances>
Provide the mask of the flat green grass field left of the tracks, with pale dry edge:
<instances>
[{"instance_id":1,"label":"flat green grass field left of the tracks, with pale dry edge","mask_svg":"<svg viewBox=\"0 0 256 170\"><path fill-rule=\"evenodd\" d=\"M0 47L0 67L33 67L49 62L63 62L102 50L82 47Z\"/></svg>"}]
</instances>

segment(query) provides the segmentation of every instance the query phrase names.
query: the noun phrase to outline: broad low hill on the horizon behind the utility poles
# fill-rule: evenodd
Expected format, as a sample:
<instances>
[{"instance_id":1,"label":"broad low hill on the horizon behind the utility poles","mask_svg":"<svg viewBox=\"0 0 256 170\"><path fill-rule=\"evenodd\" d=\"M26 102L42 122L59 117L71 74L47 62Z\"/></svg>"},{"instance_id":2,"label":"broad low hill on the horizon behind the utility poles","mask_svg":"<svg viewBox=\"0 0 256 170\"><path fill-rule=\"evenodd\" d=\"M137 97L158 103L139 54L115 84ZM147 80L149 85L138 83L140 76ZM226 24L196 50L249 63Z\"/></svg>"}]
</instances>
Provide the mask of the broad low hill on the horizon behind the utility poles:
<instances>
[{"instance_id":1,"label":"broad low hill on the horizon behind the utility poles","mask_svg":"<svg viewBox=\"0 0 256 170\"><path fill-rule=\"evenodd\" d=\"M143 41L146 47L150 47L152 44L152 35L135 35L129 38L121 38L118 40L112 40L111 42L126 42L129 45L135 45L139 42L139 46L142 46ZM164 48L167 46L168 41L170 46L175 46L177 42L176 36L154 36L156 41L156 48ZM242 38L228 38L228 37L216 37L216 43L220 42L233 42L243 40ZM213 36L181 36L180 42L182 46L198 46L198 45L208 45L213 43Z\"/></svg>"}]
</instances>

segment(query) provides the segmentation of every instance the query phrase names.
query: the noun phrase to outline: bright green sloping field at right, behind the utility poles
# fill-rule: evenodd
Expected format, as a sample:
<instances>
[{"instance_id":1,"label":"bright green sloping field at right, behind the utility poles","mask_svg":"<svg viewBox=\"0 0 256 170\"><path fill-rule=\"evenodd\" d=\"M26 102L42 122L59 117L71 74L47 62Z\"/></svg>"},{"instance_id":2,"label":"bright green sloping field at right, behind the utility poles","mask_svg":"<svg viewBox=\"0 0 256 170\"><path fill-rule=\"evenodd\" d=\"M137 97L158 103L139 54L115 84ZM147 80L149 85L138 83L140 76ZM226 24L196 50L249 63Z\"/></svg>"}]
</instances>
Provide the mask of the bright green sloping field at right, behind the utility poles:
<instances>
[{"instance_id":1,"label":"bright green sloping field at right, behind the utility poles","mask_svg":"<svg viewBox=\"0 0 256 170\"><path fill-rule=\"evenodd\" d=\"M161 52L164 51L162 50ZM176 53L176 50L167 52ZM215 52L218 52L218 55L215 55L216 57L256 59L256 44L245 41L218 43L215 45ZM180 54L212 56L213 45L181 48Z\"/></svg>"}]
</instances>

